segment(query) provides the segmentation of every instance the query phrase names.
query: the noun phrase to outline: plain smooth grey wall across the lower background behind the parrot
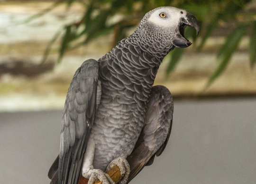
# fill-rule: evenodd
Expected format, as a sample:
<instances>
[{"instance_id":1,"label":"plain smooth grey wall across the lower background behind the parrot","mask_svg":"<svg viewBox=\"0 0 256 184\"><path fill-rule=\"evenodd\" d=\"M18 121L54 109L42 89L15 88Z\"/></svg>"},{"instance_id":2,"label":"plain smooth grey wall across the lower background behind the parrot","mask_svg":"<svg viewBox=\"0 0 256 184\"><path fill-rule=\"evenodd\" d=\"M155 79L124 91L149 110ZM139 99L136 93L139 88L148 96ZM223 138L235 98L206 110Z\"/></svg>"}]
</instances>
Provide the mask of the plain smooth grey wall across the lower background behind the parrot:
<instances>
[{"instance_id":1,"label":"plain smooth grey wall across the lower background behind the parrot","mask_svg":"<svg viewBox=\"0 0 256 184\"><path fill-rule=\"evenodd\" d=\"M164 153L131 184L255 184L256 99L174 101ZM48 184L61 111L0 113L0 184Z\"/></svg>"}]
</instances>

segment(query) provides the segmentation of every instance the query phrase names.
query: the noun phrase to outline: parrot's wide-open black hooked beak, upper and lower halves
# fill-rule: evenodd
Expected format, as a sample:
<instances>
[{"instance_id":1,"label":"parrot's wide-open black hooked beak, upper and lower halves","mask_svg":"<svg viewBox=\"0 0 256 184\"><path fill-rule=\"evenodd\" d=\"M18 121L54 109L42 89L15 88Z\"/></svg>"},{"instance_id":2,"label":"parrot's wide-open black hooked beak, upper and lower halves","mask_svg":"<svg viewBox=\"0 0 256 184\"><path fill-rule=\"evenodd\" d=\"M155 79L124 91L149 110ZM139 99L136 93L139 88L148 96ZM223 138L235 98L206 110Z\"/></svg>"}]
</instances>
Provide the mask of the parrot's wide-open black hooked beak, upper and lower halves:
<instances>
[{"instance_id":1,"label":"parrot's wide-open black hooked beak, upper and lower halves","mask_svg":"<svg viewBox=\"0 0 256 184\"><path fill-rule=\"evenodd\" d=\"M190 42L188 39L186 39L184 37L185 27L187 25L191 26L191 27L194 27L195 30L196 30L196 34L198 35L199 29L200 29L199 22L196 19L196 17L194 17L190 13L187 13L186 17L181 18L181 24L180 24L180 29L179 29L180 33L177 33L174 36L173 44L174 44L175 47L185 48L185 47L188 47L192 44L192 42Z\"/></svg>"}]
</instances>

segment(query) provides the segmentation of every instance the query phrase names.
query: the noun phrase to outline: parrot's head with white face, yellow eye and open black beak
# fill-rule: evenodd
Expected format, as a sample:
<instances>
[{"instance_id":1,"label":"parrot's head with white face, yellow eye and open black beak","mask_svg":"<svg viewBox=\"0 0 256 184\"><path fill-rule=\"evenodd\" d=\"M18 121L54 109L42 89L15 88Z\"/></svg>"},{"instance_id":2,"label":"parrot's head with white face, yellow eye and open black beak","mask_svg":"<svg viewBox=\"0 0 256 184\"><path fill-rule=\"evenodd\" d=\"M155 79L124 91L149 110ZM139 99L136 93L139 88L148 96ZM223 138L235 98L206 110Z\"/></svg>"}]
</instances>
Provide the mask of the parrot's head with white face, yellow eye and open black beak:
<instances>
[{"instance_id":1,"label":"parrot's head with white face, yellow eye and open black beak","mask_svg":"<svg viewBox=\"0 0 256 184\"><path fill-rule=\"evenodd\" d=\"M185 48L192 44L184 36L187 25L194 27L196 33L199 33L199 22L192 14L179 8L159 7L146 13L137 33L149 44L155 42L160 48Z\"/></svg>"}]
</instances>

